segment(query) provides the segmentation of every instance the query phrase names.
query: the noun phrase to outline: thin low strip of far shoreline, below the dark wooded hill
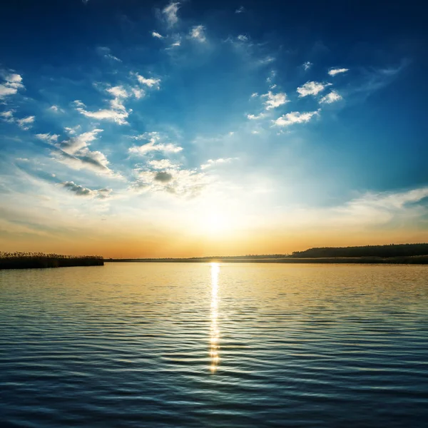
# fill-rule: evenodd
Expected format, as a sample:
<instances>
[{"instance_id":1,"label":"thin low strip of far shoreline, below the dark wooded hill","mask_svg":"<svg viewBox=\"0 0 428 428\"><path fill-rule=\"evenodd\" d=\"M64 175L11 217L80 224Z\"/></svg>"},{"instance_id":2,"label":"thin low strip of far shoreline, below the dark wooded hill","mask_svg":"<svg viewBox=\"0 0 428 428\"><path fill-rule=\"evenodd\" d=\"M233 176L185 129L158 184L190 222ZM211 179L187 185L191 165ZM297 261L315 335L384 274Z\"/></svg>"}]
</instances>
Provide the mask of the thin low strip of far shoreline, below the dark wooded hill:
<instances>
[{"instance_id":1,"label":"thin low strip of far shoreline, below the dark wooded hill","mask_svg":"<svg viewBox=\"0 0 428 428\"><path fill-rule=\"evenodd\" d=\"M428 265L428 255L409 257L337 257L337 258L158 258L158 259L105 259L106 263L355 263L387 265Z\"/></svg>"}]
</instances>

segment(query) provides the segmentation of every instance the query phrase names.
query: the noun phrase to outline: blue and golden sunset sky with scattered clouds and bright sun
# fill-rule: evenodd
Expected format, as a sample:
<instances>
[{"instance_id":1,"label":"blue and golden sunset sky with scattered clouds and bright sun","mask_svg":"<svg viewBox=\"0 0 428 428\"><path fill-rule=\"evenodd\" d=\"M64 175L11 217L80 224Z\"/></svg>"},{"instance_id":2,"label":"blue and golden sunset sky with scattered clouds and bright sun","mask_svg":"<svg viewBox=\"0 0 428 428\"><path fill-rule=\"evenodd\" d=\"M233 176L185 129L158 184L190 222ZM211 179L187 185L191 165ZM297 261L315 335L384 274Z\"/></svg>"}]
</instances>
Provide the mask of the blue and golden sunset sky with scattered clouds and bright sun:
<instances>
[{"instance_id":1,"label":"blue and golden sunset sky with scattered clouds and bright sun","mask_svg":"<svg viewBox=\"0 0 428 428\"><path fill-rule=\"evenodd\" d=\"M428 242L419 1L9 1L0 251Z\"/></svg>"}]
</instances>

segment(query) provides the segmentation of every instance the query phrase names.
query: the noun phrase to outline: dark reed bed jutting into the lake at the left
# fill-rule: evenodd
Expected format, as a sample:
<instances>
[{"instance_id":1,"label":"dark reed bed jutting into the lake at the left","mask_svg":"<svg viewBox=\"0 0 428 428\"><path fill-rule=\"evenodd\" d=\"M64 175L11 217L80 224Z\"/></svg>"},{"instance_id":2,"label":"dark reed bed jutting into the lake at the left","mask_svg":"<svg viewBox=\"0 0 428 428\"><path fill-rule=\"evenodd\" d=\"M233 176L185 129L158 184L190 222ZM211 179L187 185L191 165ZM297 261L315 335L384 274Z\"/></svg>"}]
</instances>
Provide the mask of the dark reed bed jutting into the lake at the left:
<instances>
[{"instance_id":1,"label":"dark reed bed jutting into the lake at the left","mask_svg":"<svg viewBox=\"0 0 428 428\"><path fill-rule=\"evenodd\" d=\"M0 251L0 269L103 266L101 255L61 255L44 253L5 253Z\"/></svg>"}]
</instances>

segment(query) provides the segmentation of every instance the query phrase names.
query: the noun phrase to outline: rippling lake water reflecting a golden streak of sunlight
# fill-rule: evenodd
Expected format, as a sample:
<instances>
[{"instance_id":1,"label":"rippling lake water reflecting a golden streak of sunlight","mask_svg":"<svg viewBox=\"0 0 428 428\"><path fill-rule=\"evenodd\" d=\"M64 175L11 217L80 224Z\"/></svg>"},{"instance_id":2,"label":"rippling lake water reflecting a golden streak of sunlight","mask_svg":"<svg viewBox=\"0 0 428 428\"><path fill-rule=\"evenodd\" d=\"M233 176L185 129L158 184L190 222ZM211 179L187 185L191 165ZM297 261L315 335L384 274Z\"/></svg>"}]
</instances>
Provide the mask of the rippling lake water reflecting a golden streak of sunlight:
<instances>
[{"instance_id":1,"label":"rippling lake water reflecting a golden streak of sunlight","mask_svg":"<svg viewBox=\"0 0 428 428\"><path fill-rule=\"evenodd\" d=\"M427 266L0 271L1 427L427 425Z\"/></svg>"}]
</instances>

